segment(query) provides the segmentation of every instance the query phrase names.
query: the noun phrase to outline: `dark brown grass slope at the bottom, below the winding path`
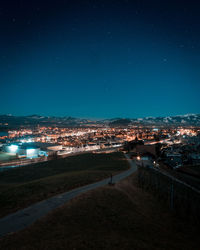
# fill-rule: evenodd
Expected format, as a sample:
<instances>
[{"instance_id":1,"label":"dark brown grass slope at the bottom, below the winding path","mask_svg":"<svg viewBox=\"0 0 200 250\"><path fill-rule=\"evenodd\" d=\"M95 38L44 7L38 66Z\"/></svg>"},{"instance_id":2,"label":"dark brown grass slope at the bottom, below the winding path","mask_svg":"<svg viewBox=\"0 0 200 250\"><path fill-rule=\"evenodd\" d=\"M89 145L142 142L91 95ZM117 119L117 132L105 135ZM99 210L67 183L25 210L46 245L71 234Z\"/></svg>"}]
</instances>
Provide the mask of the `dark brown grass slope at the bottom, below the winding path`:
<instances>
[{"instance_id":1,"label":"dark brown grass slope at the bottom, below the winding path","mask_svg":"<svg viewBox=\"0 0 200 250\"><path fill-rule=\"evenodd\" d=\"M0 240L0 249L199 249L195 231L128 178L83 194L30 228Z\"/></svg>"}]
</instances>

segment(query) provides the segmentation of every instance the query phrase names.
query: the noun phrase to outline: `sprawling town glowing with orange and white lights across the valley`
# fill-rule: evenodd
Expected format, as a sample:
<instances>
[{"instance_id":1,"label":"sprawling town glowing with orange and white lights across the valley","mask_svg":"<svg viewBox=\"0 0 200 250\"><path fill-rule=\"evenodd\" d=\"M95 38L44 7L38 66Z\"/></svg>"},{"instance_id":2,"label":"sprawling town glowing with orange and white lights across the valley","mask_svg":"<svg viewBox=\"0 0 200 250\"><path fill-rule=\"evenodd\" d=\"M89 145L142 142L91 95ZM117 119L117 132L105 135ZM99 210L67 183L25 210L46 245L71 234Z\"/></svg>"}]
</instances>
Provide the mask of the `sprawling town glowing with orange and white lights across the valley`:
<instances>
[{"instance_id":1,"label":"sprawling town glowing with orange and white lights across the valley","mask_svg":"<svg viewBox=\"0 0 200 250\"><path fill-rule=\"evenodd\" d=\"M133 145L137 145L133 149ZM142 145L141 145L142 144ZM123 150L162 159L171 169L200 163L199 127L101 126L20 128L1 133L1 166L65 157L82 152ZM19 160L19 162L17 162Z\"/></svg>"}]
</instances>

